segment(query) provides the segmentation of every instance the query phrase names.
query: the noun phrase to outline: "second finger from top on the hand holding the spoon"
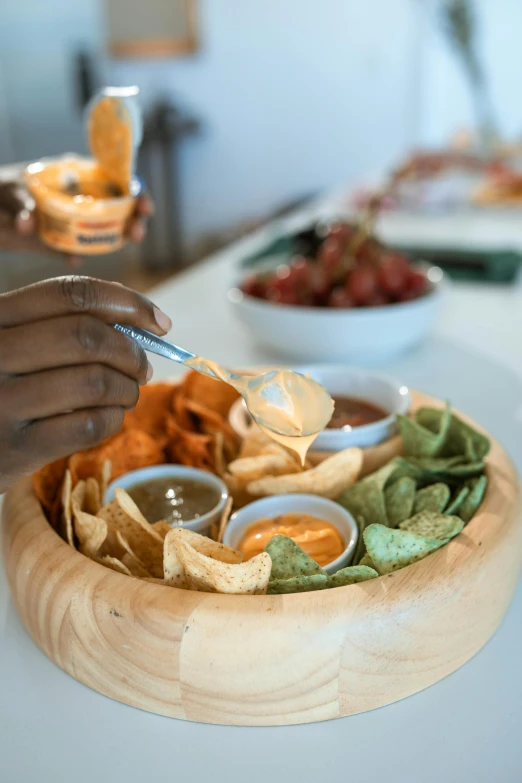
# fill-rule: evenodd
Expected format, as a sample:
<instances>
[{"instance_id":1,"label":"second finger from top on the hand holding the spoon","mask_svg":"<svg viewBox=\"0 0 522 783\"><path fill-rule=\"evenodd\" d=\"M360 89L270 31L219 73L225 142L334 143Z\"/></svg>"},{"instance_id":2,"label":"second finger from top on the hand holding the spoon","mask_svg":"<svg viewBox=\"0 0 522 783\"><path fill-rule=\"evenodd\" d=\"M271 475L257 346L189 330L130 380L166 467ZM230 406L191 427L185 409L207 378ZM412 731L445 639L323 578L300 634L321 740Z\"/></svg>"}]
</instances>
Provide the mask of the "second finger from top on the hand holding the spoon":
<instances>
[{"instance_id":1,"label":"second finger from top on the hand holding the spoon","mask_svg":"<svg viewBox=\"0 0 522 783\"><path fill-rule=\"evenodd\" d=\"M151 372L137 343L91 315L14 326L0 335L1 374L26 375L84 364L106 365L140 384Z\"/></svg>"}]
</instances>

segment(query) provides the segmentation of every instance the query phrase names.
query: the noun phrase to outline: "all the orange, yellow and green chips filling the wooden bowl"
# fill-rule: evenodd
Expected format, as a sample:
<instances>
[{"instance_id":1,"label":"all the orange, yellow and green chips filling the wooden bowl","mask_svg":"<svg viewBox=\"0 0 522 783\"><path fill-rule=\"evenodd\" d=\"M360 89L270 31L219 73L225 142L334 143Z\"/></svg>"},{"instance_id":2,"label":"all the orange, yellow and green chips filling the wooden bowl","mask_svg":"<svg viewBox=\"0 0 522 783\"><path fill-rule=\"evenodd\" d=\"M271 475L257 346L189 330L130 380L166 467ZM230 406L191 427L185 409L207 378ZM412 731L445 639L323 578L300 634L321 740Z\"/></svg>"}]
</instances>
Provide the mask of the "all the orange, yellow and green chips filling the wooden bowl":
<instances>
[{"instance_id":1,"label":"all the orange, yellow and green chips filling the wooden bowl","mask_svg":"<svg viewBox=\"0 0 522 783\"><path fill-rule=\"evenodd\" d=\"M399 417L402 455L359 478L360 449L312 467L257 428L239 443L228 423L236 398L197 373L178 385L145 387L120 433L34 476L50 522L71 547L127 576L204 592L286 594L351 585L421 560L458 535L482 503L489 440L449 406ZM210 537L164 520L150 524L121 489L104 504L111 480L166 462L212 471L227 483L229 502ZM245 562L221 543L233 505L292 493L330 498L352 513L359 527L353 565L328 574L281 535Z\"/></svg>"}]
</instances>

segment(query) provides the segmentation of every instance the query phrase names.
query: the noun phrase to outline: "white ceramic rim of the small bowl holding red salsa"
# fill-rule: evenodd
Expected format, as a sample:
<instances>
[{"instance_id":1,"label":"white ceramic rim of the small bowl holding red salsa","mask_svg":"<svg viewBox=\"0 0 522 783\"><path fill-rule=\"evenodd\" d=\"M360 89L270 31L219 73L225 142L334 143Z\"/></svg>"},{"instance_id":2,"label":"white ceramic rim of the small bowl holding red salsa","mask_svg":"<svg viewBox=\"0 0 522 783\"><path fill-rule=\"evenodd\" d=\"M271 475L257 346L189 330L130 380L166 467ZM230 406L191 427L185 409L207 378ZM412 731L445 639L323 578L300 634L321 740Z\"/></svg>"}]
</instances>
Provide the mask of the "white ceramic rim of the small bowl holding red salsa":
<instances>
[{"instance_id":1,"label":"white ceramic rim of the small bowl holding red salsa","mask_svg":"<svg viewBox=\"0 0 522 783\"><path fill-rule=\"evenodd\" d=\"M324 430L312 446L316 451L342 451L351 446L367 448L376 446L394 435L396 416L406 413L410 407L410 394L406 386L385 375L358 367L339 365L296 367L298 372L308 372L319 381L332 396L356 397L374 403L388 413L384 419L361 427L344 427ZM244 438L251 426L243 400L237 400L230 409L229 421L237 434Z\"/></svg>"}]
</instances>

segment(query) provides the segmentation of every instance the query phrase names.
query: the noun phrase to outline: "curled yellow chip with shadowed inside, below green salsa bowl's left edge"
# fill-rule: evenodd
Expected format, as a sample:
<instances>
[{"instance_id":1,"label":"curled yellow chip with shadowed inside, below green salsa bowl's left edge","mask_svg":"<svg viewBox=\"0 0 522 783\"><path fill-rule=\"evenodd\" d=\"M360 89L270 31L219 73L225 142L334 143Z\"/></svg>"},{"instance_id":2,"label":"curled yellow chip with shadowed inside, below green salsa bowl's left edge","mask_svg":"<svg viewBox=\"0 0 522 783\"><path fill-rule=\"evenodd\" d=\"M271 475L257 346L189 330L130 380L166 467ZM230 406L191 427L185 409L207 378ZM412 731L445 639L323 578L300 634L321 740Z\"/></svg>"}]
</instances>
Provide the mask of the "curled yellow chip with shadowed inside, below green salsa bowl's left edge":
<instances>
[{"instance_id":1,"label":"curled yellow chip with shadowed inside, below green salsa bowl's left edge","mask_svg":"<svg viewBox=\"0 0 522 783\"><path fill-rule=\"evenodd\" d=\"M119 530L133 553L151 576L163 577L163 539L147 522L132 498L116 489L116 498L100 511L100 516Z\"/></svg>"}]
</instances>

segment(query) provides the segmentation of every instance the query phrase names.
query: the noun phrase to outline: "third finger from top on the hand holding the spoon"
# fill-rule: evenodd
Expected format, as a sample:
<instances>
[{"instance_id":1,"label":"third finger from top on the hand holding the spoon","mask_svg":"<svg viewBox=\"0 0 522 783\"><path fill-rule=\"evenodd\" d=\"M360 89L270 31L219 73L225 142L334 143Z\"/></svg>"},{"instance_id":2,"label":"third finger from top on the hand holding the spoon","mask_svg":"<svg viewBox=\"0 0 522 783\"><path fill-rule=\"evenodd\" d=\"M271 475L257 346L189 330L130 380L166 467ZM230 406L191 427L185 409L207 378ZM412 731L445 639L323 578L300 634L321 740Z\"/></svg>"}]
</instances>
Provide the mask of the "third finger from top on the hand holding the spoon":
<instances>
[{"instance_id":1,"label":"third finger from top on the hand holding the spoon","mask_svg":"<svg viewBox=\"0 0 522 783\"><path fill-rule=\"evenodd\" d=\"M10 378L2 388L4 415L25 424L88 408L134 408L135 380L102 364L63 367Z\"/></svg>"}]
</instances>

